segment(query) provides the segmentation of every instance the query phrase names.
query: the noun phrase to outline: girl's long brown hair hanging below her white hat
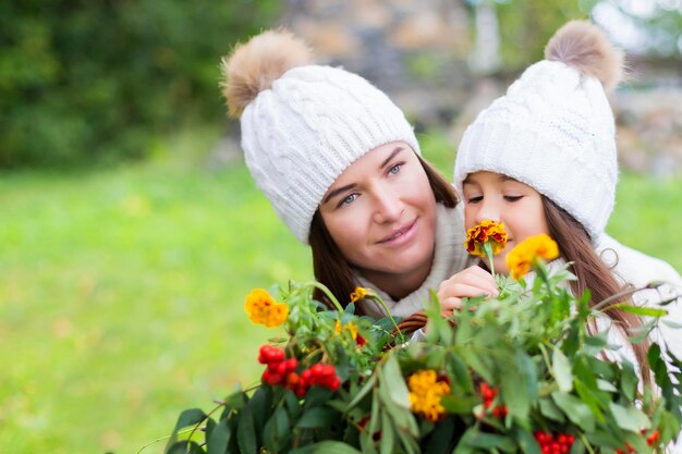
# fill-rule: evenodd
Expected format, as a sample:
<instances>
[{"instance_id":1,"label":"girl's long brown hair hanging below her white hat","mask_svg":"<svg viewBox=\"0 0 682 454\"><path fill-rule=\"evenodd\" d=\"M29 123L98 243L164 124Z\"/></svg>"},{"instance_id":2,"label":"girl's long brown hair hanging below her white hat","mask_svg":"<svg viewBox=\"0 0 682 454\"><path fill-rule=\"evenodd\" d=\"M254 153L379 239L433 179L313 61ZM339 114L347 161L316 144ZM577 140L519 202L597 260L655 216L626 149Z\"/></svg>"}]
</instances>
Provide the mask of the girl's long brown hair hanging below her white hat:
<instances>
[{"instance_id":1,"label":"girl's long brown hair hanging below her white hat","mask_svg":"<svg viewBox=\"0 0 682 454\"><path fill-rule=\"evenodd\" d=\"M549 226L549 236L559 244L561 256L567 261L573 262L571 270L577 278L576 281L571 281L573 294L580 296L589 290L592 295L589 304L595 306L606 298L623 292L624 286L618 283L611 270L595 253L589 235L583 225L545 196L543 196L543 206ZM642 326L640 317L622 309L609 309L606 315L626 336L632 334L633 329ZM587 329L594 333L596 332L596 324L593 323ZM637 358L642 379L648 383L650 369L646 359L646 351L649 343L645 340L636 344L631 343L631 346Z\"/></svg>"}]
</instances>

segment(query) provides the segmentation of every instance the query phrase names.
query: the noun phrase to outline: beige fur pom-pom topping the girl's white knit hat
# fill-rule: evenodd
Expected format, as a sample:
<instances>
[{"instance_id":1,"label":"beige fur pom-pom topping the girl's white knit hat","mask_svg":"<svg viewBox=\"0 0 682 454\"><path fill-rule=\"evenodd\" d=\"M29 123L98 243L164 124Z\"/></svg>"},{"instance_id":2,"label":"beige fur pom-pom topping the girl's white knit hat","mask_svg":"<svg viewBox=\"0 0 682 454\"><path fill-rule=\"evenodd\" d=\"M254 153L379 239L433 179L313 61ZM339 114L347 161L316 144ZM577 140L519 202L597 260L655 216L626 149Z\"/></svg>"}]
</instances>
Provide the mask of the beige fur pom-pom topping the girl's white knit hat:
<instances>
[{"instance_id":1,"label":"beige fur pom-pom topping the girl's white knit hat","mask_svg":"<svg viewBox=\"0 0 682 454\"><path fill-rule=\"evenodd\" d=\"M545 58L598 78L606 90L614 88L623 76L623 52L587 21L571 21L559 28L545 48Z\"/></svg>"}]
</instances>

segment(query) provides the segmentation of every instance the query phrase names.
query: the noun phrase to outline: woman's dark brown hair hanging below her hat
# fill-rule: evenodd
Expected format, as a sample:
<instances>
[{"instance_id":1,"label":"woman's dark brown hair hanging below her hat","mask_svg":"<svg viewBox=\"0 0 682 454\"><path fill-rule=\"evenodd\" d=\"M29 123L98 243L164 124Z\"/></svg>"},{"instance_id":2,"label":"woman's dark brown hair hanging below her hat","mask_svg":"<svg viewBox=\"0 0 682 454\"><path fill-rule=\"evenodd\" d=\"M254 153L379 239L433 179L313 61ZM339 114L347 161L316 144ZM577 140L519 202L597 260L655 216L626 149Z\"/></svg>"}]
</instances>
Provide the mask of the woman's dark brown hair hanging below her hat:
<instances>
[{"instance_id":1,"label":"woman's dark brown hair hanging below her hat","mask_svg":"<svg viewBox=\"0 0 682 454\"><path fill-rule=\"evenodd\" d=\"M421 156L417 156L417 158L426 172L436 201L448 208L454 208L458 204L458 198L452 185ZM326 285L339 303L345 307L351 293L355 290L353 270L351 263L343 257L343 254L341 254L341 250L339 250L339 247L329 234L319 210L315 211L313 216L308 243L313 251L315 279ZM331 307L330 302L321 291L316 290L314 297ZM357 312L362 314L360 306Z\"/></svg>"}]
</instances>

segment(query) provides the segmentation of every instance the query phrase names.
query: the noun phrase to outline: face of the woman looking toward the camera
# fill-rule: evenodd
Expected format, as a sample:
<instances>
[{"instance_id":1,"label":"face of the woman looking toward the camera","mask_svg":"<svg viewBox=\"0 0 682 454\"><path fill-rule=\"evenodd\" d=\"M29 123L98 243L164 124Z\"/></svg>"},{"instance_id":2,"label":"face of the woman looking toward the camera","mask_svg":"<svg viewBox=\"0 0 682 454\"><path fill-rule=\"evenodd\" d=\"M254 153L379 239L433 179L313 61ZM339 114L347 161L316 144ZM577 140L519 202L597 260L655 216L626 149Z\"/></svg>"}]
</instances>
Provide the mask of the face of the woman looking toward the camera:
<instances>
[{"instance_id":1,"label":"face of the woman looking toward the camera","mask_svg":"<svg viewBox=\"0 0 682 454\"><path fill-rule=\"evenodd\" d=\"M382 145L351 164L319 211L346 260L380 289L391 293L395 283L416 289L428 275L436 199L406 143Z\"/></svg>"}]
</instances>

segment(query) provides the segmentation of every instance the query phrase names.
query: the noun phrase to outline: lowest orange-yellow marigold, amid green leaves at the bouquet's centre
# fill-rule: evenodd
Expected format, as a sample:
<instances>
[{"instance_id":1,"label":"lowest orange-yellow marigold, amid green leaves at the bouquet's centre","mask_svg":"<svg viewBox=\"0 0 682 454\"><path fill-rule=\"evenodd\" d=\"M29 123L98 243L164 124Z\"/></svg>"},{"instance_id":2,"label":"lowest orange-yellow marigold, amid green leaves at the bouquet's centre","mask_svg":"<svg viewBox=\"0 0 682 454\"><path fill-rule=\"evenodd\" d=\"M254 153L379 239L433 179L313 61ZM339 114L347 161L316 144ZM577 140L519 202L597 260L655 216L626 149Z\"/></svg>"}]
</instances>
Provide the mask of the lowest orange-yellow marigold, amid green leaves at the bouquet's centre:
<instances>
[{"instance_id":1,"label":"lowest orange-yellow marigold, amid green leaves at the bouquet's centre","mask_svg":"<svg viewBox=\"0 0 682 454\"><path fill-rule=\"evenodd\" d=\"M412 412L424 416L427 420L436 422L446 409L440 404L444 395L450 394L450 385L439 381L433 369L418 370L407 379L410 390L410 404Z\"/></svg>"}]
</instances>

